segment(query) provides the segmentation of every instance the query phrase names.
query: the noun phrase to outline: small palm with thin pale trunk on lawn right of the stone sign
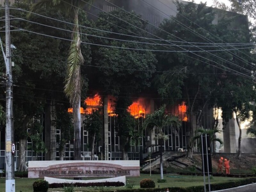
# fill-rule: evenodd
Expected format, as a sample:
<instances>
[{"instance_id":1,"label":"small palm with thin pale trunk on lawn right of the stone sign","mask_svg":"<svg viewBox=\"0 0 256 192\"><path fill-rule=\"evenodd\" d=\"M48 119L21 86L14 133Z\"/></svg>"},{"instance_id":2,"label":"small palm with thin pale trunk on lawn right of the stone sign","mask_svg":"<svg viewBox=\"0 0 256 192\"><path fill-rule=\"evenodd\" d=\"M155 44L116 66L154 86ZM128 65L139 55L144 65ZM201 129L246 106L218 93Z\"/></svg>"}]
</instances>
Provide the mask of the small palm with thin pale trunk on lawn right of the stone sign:
<instances>
[{"instance_id":1,"label":"small palm with thin pale trunk on lawn right of the stone sign","mask_svg":"<svg viewBox=\"0 0 256 192\"><path fill-rule=\"evenodd\" d=\"M156 140L160 140L164 142L168 139L168 137L164 134L164 128L166 126L180 126L180 122L178 117L172 116L170 114L165 113L166 105L163 105L159 109L156 109L154 113L148 114L146 119L143 123L143 128L153 129L154 127L158 131ZM164 179L163 174L163 158L162 158L162 146L160 146L160 172L161 172L161 179Z\"/></svg>"}]
</instances>

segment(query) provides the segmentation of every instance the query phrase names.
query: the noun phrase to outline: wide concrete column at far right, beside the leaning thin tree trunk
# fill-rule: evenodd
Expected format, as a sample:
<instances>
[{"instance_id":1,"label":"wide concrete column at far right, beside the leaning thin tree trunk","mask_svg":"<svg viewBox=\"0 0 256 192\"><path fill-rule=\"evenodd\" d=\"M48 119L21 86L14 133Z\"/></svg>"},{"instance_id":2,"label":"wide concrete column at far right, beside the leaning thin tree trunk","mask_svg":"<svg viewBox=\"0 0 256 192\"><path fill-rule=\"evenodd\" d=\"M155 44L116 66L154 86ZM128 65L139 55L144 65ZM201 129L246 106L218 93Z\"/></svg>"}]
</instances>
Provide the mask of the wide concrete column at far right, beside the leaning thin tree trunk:
<instances>
[{"instance_id":1,"label":"wide concrete column at far right, beside the leaning thin tree trunk","mask_svg":"<svg viewBox=\"0 0 256 192\"><path fill-rule=\"evenodd\" d=\"M236 130L234 118L228 121L223 131L223 141L225 153L236 153Z\"/></svg>"}]
</instances>

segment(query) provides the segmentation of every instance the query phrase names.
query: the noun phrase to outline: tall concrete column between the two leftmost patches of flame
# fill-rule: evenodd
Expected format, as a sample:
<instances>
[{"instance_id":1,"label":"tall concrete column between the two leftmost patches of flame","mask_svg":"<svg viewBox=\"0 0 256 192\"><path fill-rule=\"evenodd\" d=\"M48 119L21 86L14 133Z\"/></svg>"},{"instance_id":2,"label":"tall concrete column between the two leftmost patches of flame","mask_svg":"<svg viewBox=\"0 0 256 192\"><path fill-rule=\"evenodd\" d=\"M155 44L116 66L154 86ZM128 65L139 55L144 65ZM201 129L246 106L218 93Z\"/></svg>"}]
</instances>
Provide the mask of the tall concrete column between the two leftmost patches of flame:
<instances>
[{"instance_id":1,"label":"tall concrete column between the two leftmost patches of flame","mask_svg":"<svg viewBox=\"0 0 256 192\"><path fill-rule=\"evenodd\" d=\"M104 154L105 160L108 160L108 97L103 100L103 115L104 115Z\"/></svg>"}]
</instances>

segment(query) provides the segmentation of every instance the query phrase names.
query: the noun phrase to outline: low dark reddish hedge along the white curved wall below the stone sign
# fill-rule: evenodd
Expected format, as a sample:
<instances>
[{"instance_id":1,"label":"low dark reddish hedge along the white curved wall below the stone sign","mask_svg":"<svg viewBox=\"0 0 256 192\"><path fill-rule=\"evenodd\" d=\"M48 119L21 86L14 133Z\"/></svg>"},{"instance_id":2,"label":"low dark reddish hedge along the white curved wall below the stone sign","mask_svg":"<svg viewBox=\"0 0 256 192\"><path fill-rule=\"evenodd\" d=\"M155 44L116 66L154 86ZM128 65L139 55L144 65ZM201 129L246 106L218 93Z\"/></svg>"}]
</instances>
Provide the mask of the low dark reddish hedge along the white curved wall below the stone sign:
<instances>
[{"instance_id":1,"label":"low dark reddish hedge along the white curved wall below the stone sign","mask_svg":"<svg viewBox=\"0 0 256 192\"><path fill-rule=\"evenodd\" d=\"M63 188L64 186L69 186L70 183L51 183L49 188ZM123 182L101 182L101 183L73 183L74 187L122 187Z\"/></svg>"}]
</instances>

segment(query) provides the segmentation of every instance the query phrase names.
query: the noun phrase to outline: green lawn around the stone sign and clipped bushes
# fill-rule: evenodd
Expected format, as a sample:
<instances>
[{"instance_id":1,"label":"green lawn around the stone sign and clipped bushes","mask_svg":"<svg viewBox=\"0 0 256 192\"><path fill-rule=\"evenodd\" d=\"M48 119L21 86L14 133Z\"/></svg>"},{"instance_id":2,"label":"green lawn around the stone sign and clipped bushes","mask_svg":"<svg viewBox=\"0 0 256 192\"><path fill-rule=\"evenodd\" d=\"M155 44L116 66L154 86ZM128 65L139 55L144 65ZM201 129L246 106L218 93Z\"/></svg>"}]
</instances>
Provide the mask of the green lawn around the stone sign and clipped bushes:
<instances>
[{"instance_id":1,"label":"green lawn around the stone sign and clipped bushes","mask_svg":"<svg viewBox=\"0 0 256 192\"><path fill-rule=\"evenodd\" d=\"M168 177L175 176L175 177ZM177 178L178 177L178 178ZM160 175L149 175L149 174L140 174L140 177L127 177L126 182L134 183L135 188L140 187L140 180L145 178L151 178L155 180L156 187L164 188L164 187L190 187L190 186L198 186L204 184L204 179L202 176L185 176L185 175L171 175L165 174L164 179L167 180L166 183L157 183L157 179L160 179ZM86 179L96 179L96 178L86 178ZM97 178L99 179L99 178ZM239 178L228 178L228 177L213 177L211 179L211 183L225 182L228 180L238 180ZM37 179L28 179L28 178L17 178L16 179L16 192L33 192L32 184ZM206 178L206 181L208 179ZM116 189L120 187L106 187L104 189ZM122 187L124 188L124 187ZM92 191L95 188L79 188L79 191ZM5 178L0 178L0 192L5 191ZM49 189L48 191L57 191L56 189ZM58 189L58 191L62 191L62 189Z\"/></svg>"}]
</instances>

